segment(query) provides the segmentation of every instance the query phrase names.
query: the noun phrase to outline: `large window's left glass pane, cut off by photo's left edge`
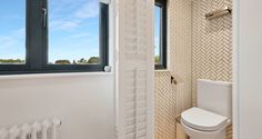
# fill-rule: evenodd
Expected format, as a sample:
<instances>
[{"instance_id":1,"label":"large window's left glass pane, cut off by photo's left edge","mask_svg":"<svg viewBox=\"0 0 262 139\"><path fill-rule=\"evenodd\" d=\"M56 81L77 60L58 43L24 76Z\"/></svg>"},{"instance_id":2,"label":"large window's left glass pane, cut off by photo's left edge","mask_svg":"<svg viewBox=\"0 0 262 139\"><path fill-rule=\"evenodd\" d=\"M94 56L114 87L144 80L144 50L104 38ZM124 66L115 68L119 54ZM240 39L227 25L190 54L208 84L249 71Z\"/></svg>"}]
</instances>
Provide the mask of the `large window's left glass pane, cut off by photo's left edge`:
<instances>
[{"instance_id":1,"label":"large window's left glass pane, cut off by photo's left edge","mask_svg":"<svg viewBox=\"0 0 262 139\"><path fill-rule=\"evenodd\" d=\"M1 0L0 64L26 62L26 1Z\"/></svg>"}]
</instances>

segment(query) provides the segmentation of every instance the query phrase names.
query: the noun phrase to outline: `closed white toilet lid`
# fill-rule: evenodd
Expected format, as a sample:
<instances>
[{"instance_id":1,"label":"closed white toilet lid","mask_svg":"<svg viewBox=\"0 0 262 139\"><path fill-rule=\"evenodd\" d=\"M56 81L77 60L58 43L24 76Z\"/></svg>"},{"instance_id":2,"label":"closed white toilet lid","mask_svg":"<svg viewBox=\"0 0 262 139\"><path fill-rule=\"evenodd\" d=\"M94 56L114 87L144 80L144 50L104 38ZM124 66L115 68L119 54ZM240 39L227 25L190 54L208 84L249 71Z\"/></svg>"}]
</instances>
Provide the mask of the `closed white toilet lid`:
<instances>
[{"instance_id":1,"label":"closed white toilet lid","mask_svg":"<svg viewBox=\"0 0 262 139\"><path fill-rule=\"evenodd\" d=\"M228 125L226 117L200 108L191 108L182 112L181 120L187 126L202 131L215 131Z\"/></svg>"}]
</instances>

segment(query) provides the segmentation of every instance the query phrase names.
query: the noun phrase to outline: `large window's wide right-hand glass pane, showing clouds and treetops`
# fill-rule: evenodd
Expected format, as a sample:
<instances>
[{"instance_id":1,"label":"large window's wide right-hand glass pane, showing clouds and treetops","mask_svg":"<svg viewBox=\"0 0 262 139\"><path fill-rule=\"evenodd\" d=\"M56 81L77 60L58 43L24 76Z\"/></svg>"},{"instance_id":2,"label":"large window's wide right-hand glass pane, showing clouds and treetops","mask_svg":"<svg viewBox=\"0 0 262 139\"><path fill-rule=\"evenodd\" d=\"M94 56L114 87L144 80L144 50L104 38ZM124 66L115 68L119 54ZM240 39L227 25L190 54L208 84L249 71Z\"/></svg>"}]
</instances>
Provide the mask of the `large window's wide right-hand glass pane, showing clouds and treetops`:
<instances>
[{"instance_id":1,"label":"large window's wide right-hand glass pane, showing clouds and treetops","mask_svg":"<svg viewBox=\"0 0 262 139\"><path fill-rule=\"evenodd\" d=\"M100 63L99 0L49 2L49 63Z\"/></svg>"}]
</instances>

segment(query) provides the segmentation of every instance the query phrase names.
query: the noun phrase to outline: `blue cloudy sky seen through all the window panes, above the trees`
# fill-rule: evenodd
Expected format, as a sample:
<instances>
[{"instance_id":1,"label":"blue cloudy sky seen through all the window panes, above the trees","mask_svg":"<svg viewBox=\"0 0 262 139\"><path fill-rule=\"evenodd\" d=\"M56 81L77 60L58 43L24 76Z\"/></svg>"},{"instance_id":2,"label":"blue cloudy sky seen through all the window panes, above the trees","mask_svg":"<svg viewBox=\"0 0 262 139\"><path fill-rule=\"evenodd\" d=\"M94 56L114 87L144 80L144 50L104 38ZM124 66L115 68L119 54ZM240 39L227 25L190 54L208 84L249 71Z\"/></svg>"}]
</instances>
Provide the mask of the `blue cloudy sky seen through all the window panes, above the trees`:
<instances>
[{"instance_id":1,"label":"blue cloudy sky seen through all the window panes, above the trees","mask_svg":"<svg viewBox=\"0 0 262 139\"><path fill-rule=\"evenodd\" d=\"M99 0L49 0L49 62L99 56L98 4ZM154 12L159 54L160 9ZM26 59L26 0L1 0L0 59Z\"/></svg>"}]
</instances>

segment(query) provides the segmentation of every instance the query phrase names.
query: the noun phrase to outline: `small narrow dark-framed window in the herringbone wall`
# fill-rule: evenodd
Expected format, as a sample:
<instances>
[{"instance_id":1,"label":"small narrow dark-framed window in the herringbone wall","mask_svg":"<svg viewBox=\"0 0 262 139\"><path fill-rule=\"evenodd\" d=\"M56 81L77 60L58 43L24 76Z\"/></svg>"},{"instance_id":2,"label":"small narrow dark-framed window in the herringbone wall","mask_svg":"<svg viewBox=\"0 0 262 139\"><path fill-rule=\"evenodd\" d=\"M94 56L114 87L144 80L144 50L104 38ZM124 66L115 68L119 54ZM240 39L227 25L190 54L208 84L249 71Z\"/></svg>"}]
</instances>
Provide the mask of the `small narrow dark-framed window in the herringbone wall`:
<instances>
[{"instance_id":1,"label":"small narrow dark-framed window in the herringbone wall","mask_svg":"<svg viewBox=\"0 0 262 139\"><path fill-rule=\"evenodd\" d=\"M167 69L165 0L157 0L154 6L154 63L155 69Z\"/></svg>"}]
</instances>

